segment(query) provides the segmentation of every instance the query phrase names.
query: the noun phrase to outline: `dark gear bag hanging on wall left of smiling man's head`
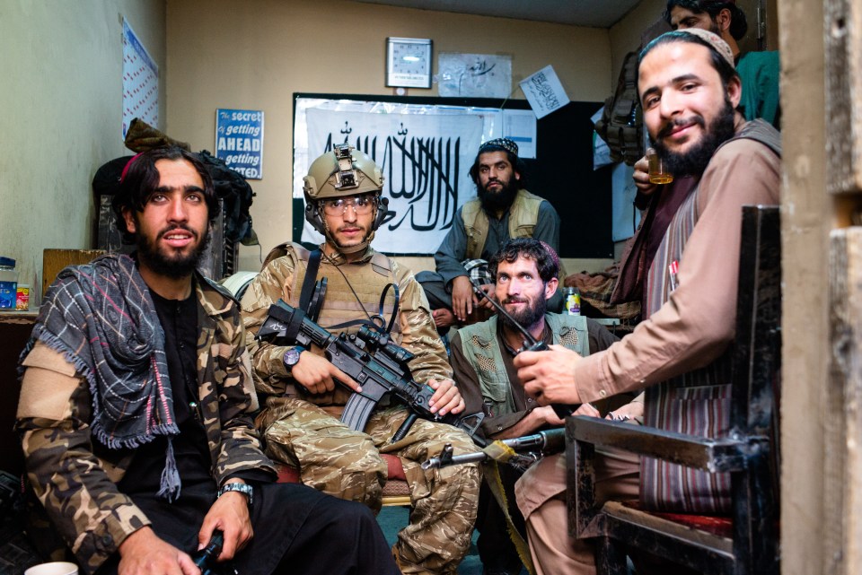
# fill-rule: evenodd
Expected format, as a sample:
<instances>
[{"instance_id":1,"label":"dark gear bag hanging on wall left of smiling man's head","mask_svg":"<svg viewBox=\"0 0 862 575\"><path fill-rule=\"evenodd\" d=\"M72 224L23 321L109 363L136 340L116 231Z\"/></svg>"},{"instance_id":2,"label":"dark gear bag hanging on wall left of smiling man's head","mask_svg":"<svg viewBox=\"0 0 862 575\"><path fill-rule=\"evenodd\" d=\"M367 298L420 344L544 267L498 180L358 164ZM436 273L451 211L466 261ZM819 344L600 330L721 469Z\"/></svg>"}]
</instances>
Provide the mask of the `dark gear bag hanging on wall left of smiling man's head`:
<instances>
[{"instance_id":1,"label":"dark gear bag hanging on wall left of smiling man's head","mask_svg":"<svg viewBox=\"0 0 862 575\"><path fill-rule=\"evenodd\" d=\"M638 100L638 52L629 52L623 60L616 90L604 101L602 119L595 123L595 133L608 144L612 161L625 161L633 166L644 156L643 126Z\"/></svg>"}]
</instances>

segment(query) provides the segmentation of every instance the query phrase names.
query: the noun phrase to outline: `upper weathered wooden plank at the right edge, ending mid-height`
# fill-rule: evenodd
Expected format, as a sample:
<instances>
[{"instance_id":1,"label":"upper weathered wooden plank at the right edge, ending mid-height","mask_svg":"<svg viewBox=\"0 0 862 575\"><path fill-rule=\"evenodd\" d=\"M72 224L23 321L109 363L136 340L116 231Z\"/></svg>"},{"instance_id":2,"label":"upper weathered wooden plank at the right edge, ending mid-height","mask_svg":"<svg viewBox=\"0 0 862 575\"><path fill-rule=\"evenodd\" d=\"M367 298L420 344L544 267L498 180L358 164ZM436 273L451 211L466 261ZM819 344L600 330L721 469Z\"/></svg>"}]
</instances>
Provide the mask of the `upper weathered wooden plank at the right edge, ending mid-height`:
<instances>
[{"instance_id":1,"label":"upper weathered wooden plank at the right edge, ending mid-height","mask_svg":"<svg viewBox=\"0 0 862 575\"><path fill-rule=\"evenodd\" d=\"M826 187L862 191L862 3L824 0Z\"/></svg>"}]
</instances>

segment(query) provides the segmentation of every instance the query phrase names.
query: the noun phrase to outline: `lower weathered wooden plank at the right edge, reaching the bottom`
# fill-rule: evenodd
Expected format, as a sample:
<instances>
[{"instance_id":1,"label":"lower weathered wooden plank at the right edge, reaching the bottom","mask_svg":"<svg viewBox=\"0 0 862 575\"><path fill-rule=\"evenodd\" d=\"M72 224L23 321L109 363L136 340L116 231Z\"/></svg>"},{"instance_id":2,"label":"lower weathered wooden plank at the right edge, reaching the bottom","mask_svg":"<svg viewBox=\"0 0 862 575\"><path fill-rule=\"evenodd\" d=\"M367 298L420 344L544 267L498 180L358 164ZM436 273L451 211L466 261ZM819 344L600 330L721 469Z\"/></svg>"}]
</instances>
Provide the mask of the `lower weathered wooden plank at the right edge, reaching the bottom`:
<instances>
[{"instance_id":1,"label":"lower weathered wooden plank at the right edge, reaching the bottom","mask_svg":"<svg viewBox=\"0 0 862 575\"><path fill-rule=\"evenodd\" d=\"M831 569L856 573L862 562L862 227L831 232L831 365L826 420L824 504L833 527Z\"/></svg>"}]
</instances>

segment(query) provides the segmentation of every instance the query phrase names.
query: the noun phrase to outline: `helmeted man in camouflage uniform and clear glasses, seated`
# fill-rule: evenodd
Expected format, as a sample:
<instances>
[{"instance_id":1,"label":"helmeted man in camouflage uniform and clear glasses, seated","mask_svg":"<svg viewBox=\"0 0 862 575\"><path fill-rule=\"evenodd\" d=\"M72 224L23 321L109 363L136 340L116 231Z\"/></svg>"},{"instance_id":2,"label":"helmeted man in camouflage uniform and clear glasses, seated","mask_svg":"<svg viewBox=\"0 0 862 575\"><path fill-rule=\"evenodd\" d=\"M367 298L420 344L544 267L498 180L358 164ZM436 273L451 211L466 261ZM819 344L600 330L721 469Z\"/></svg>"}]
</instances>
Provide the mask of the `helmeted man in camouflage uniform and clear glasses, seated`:
<instances>
[{"instance_id":1,"label":"helmeted man in camouflage uniform and clear glasses, seated","mask_svg":"<svg viewBox=\"0 0 862 575\"><path fill-rule=\"evenodd\" d=\"M388 323L395 315L391 334L396 344L415 354L409 362L413 378L435 388L431 411L462 412L463 400L450 379L425 293L408 269L369 247L386 214L380 168L344 144L315 160L304 181L306 219L326 238L316 274L328 281L318 323L332 327L375 314L382 317L380 323ZM282 299L299 307L310 257L297 244L279 246L242 298L255 385L266 396L257 423L267 453L295 466L304 484L363 501L374 510L380 509L387 477L381 454L398 456L410 485L412 510L392 553L404 573L454 573L470 546L479 469L471 464L423 471L419 463L446 443L460 453L475 450L466 433L419 419L403 440L391 443L409 413L403 405L378 406L365 432L352 431L339 416L351 390L358 388L353 379L321 357L320 350L254 339L272 303ZM389 284L397 290L387 291ZM336 386L338 382L343 385Z\"/></svg>"}]
</instances>

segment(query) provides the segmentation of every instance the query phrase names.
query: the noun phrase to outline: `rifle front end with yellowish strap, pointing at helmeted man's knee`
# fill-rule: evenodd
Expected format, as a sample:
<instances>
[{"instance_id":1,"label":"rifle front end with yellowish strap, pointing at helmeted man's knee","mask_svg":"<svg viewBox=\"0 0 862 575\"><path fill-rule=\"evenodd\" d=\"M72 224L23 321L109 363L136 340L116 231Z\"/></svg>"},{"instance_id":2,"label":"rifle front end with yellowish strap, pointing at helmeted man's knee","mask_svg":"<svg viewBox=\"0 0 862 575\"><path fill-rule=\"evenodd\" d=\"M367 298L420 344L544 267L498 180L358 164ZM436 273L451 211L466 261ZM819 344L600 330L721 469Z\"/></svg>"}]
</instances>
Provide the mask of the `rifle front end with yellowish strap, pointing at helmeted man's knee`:
<instances>
[{"instance_id":1,"label":"rifle front end with yellowish strap, pointing at helmeted man's knee","mask_svg":"<svg viewBox=\"0 0 862 575\"><path fill-rule=\"evenodd\" d=\"M453 455L452 445L447 443L439 457L431 457L422 463L423 469L439 469L441 467L457 466L474 461L509 461L514 459L519 465L538 461L542 455L557 453L566 446L566 430L562 427L557 429L539 431L532 435L523 435L508 440L497 440L485 449L475 453L463 453ZM520 457L519 457L520 456Z\"/></svg>"}]
</instances>

